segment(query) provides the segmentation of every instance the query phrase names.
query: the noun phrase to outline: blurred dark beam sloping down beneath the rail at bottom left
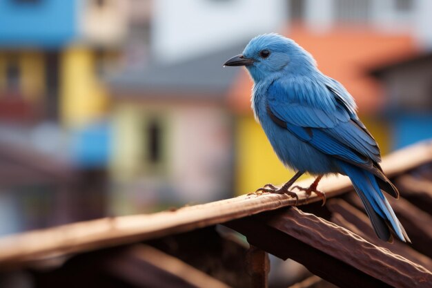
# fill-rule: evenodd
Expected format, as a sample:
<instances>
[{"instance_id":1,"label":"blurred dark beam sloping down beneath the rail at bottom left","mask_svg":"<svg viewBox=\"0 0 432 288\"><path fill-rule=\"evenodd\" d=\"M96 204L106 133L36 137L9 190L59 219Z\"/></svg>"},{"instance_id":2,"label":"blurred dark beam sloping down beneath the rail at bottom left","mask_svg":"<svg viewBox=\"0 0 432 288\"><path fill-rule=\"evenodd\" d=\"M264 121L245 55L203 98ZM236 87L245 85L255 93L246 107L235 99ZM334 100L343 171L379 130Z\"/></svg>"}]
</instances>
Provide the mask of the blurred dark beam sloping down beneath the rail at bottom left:
<instances>
[{"instance_id":1,"label":"blurred dark beam sloping down beneath the rail at bottom left","mask_svg":"<svg viewBox=\"0 0 432 288\"><path fill-rule=\"evenodd\" d=\"M81 253L58 264L30 267L26 273L34 287L47 288L230 287L146 244Z\"/></svg>"}]
</instances>

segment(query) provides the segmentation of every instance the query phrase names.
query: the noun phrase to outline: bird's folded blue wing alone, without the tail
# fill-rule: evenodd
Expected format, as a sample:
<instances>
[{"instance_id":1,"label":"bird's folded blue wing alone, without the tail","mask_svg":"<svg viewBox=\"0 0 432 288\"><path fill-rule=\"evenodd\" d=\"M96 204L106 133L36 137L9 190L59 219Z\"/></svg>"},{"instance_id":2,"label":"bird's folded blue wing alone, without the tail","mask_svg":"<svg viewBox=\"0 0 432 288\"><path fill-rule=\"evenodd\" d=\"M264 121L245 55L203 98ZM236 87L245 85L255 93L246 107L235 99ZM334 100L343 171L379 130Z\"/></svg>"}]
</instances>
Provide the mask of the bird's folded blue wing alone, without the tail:
<instances>
[{"instance_id":1,"label":"bird's folded blue wing alone, without the tail","mask_svg":"<svg viewBox=\"0 0 432 288\"><path fill-rule=\"evenodd\" d=\"M381 176L377 143L336 88L275 81L268 88L267 113L317 150Z\"/></svg>"}]
</instances>

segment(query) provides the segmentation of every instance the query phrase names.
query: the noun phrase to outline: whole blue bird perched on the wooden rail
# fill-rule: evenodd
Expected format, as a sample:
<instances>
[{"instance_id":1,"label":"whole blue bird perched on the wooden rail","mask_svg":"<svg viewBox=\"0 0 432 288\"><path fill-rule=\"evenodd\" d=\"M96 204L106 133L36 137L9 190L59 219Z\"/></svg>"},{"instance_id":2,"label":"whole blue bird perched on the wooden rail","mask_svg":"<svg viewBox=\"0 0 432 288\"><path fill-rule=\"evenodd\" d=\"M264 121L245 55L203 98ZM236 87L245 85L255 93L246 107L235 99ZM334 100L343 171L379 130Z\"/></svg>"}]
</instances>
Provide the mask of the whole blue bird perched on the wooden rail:
<instances>
[{"instance_id":1,"label":"whole blue bird perched on the wooden rail","mask_svg":"<svg viewBox=\"0 0 432 288\"><path fill-rule=\"evenodd\" d=\"M380 166L380 148L357 117L353 97L335 79L321 73L312 55L292 39L259 35L242 54L224 66L246 66L254 85L252 109L277 157L297 171L280 189L267 184L258 191L284 193L303 173L317 178L307 189L323 197L317 184L323 175L350 177L377 236L391 241L393 233L411 242L382 191L399 197ZM293 187L295 188L295 187ZM323 203L324 204L324 203Z\"/></svg>"}]
</instances>

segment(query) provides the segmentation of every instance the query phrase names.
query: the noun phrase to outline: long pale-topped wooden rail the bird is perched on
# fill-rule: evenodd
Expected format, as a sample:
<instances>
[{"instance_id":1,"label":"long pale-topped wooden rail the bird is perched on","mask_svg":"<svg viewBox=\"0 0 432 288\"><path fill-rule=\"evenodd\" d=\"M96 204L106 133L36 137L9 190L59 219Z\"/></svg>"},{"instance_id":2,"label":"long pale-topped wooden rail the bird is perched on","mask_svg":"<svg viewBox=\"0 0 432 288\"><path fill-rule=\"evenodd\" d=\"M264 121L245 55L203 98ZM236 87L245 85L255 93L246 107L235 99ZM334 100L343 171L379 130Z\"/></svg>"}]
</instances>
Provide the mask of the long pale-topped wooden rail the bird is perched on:
<instances>
[{"instance_id":1,"label":"long pale-topped wooden rail the bird is perched on","mask_svg":"<svg viewBox=\"0 0 432 288\"><path fill-rule=\"evenodd\" d=\"M390 177L431 161L432 144L423 142L389 155L382 166ZM310 183L311 180L304 180L297 184L307 186ZM335 176L322 180L320 189L331 198L350 191L352 186L347 177ZM304 192L298 195L297 204L321 201L316 195L310 198L306 198ZM295 199L286 195L243 195L177 211L104 218L30 231L0 239L0 268L159 238L295 204Z\"/></svg>"}]
</instances>

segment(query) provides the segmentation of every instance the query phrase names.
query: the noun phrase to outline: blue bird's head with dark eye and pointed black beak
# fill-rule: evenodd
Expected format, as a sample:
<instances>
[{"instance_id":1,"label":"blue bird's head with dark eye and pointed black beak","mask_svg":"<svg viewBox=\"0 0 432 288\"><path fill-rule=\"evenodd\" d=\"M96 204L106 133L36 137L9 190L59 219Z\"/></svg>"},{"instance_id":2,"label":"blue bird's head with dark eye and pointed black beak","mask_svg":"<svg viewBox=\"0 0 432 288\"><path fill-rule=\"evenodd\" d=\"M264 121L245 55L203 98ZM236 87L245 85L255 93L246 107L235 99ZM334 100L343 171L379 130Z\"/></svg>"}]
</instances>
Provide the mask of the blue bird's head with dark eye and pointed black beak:
<instances>
[{"instance_id":1,"label":"blue bird's head with dark eye and pointed black beak","mask_svg":"<svg viewBox=\"0 0 432 288\"><path fill-rule=\"evenodd\" d=\"M292 39L271 33L253 38L242 54L224 66L245 66L253 80L262 81L278 73L308 73L316 68L315 60Z\"/></svg>"}]
</instances>

